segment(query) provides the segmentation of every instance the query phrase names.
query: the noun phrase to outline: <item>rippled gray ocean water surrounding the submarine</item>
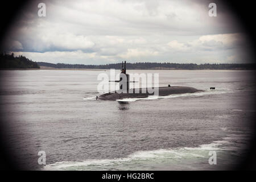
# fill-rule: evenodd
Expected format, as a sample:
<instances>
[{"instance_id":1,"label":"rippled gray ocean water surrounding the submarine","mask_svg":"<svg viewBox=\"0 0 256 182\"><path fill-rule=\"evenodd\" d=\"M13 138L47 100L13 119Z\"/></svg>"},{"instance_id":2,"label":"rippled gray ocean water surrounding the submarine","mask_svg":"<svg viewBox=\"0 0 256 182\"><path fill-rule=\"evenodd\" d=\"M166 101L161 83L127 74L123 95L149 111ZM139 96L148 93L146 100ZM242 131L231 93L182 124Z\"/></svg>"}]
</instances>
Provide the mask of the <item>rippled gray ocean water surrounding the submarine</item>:
<instances>
[{"instance_id":1,"label":"rippled gray ocean water surrounding the submarine","mask_svg":"<svg viewBox=\"0 0 256 182\"><path fill-rule=\"evenodd\" d=\"M234 169L253 136L254 71L131 70L159 73L159 86L205 92L128 104L93 98L100 95L98 74L109 70L1 73L6 143L31 169ZM38 164L38 151L46 152L46 165Z\"/></svg>"}]
</instances>

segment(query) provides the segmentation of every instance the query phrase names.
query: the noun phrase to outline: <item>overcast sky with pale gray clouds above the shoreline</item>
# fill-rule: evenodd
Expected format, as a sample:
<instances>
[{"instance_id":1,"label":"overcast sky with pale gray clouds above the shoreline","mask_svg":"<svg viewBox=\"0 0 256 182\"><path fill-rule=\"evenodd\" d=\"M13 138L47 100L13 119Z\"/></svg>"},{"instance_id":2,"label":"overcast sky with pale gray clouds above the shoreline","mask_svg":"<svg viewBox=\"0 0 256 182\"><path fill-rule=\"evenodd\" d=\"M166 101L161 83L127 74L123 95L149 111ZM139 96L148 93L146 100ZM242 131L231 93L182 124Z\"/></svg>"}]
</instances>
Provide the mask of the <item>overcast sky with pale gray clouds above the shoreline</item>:
<instances>
[{"instance_id":1,"label":"overcast sky with pale gray clouds above the shoreline","mask_svg":"<svg viewBox=\"0 0 256 182\"><path fill-rule=\"evenodd\" d=\"M215 1L217 2L217 1ZM6 48L34 61L109 64L252 62L245 33L228 6L210 1L91 0L38 2L18 13Z\"/></svg>"}]
</instances>

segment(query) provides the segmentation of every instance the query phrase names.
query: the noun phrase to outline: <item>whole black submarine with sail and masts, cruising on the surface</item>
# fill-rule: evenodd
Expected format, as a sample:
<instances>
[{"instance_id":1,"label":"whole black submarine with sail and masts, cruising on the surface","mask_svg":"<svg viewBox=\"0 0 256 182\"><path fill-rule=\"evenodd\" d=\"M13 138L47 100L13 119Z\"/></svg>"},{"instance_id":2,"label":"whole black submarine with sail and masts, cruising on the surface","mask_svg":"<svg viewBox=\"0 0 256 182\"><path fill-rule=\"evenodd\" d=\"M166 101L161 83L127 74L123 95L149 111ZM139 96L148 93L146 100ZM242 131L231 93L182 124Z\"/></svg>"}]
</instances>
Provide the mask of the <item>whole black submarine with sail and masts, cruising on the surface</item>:
<instances>
[{"instance_id":1,"label":"whole black submarine with sail and masts, cruising on the surface","mask_svg":"<svg viewBox=\"0 0 256 182\"><path fill-rule=\"evenodd\" d=\"M123 79L126 78L126 79ZM130 76L126 73L126 61L123 66L122 62L122 69L120 74L120 79L117 81L109 81L109 82L119 82L119 90L115 90L113 92L105 93L100 96L97 96L96 99L98 100L105 100L105 101L116 101L122 100L124 98L146 98L148 96L153 96L154 93L151 92L153 88L132 88L130 89ZM123 85L126 86L125 92L123 92ZM145 92L146 91L146 92ZM158 87L158 96L169 96L171 94L184 94L184 93L195 93L201 92L203 90L199 90L190 86L162 86Z\"/></svg>"}]
</instances>

